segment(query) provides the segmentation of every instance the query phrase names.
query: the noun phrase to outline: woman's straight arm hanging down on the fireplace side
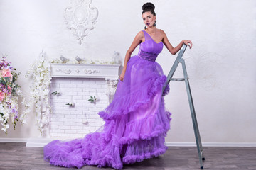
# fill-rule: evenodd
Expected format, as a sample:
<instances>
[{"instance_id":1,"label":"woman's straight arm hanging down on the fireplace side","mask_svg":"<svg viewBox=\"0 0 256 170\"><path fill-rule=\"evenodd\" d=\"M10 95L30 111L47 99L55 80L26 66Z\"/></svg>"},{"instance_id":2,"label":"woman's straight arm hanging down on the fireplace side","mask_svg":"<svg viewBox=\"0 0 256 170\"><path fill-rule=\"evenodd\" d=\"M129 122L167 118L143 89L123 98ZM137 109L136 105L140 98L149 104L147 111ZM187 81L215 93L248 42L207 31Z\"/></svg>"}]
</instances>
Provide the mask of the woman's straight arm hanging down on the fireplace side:
<instances>
[{"instance_id":1,"label":"woman's straight arm hanging down on the fireplace side","mask_svg":"<svg viewBox=\"0 0 256 170\"><path fill-rule=\"evenodd\" d=\"M122 69L122 73L120 74L120 77L119 77L119 79L121 81L124 80L124 74L125 74L126 69L127 69L127 62L129 61L129 58L131 57L132 52L139 45L139 43L142 42L143 38L144 38L143 31L139 31L139 33L137 33L137 35L135 36L131 47L129 47L129 49L127 50L127 53L126 53L125 58L124 58L124 68Z\"/></svg>"}]
</instances>

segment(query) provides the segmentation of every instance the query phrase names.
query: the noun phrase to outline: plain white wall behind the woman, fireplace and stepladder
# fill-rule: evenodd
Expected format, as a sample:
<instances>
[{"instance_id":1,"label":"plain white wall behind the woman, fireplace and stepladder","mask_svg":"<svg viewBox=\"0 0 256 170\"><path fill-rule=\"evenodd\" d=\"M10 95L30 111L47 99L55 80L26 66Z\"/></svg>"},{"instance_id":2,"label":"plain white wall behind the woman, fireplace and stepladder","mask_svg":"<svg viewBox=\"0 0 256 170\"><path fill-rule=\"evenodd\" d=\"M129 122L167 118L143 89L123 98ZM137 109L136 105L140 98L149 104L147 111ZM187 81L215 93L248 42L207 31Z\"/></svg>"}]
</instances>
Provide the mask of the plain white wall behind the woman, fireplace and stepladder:
<instances>
[{"instance_id":1,"label":"plain white wall behind the woman, fireplace and stepladder","mask_svg":"<svg viewBox=\"0 0 256 170\"><path fill-rule=\"evenodd\" d=\"M79 55L108 59L114 50L124 58L134 36L144 28L141 13L145 2L94 0L99 10L95 29L78 45L63 18L70 0L0 0L0 52L21 72L18 84L28 96L24 74L42 49L48 58ZM184 58L202 142L256 142L256 1L152 2L157 28L166 32L173 46L183 39L193 41ZM156 61L168 74L174 59L165 48ZM171 82L165 101L173 113L166 142L193 142L184 83ZM10 128L7 136L0 132L0 137L38 136L34 118L31 113L26 125Z\"/></svg>"}]
</instances>

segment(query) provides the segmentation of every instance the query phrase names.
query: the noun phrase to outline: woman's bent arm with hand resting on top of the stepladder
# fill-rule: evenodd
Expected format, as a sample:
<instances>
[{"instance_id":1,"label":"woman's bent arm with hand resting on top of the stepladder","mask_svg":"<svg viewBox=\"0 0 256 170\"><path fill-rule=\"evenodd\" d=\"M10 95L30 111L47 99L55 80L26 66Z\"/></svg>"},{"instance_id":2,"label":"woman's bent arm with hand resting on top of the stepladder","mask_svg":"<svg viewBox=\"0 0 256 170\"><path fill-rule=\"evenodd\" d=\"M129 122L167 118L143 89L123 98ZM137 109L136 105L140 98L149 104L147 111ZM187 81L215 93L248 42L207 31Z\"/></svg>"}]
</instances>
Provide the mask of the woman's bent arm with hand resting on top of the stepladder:
<instances>
[{"instance_id":1,"label":"woman's bent arm with hand resting on top of the stepladder","mask_svg":"<svg viewBox=\"0 0 256 170\"><path fill-rule=\"evenodd\" d=\"M166 33L164 33L164 30L161 30L161 32L162 32L162 35L163 35L163 40L162 41L163 41L164 45L166 46L166 48L169 50L169 52L171 52L172 55L175 55L179 50L181 50L181 47L182 47L183 43L188 45L189 48L191 48L192 45L193 45L191 40L182 40L177 45L177 47L173 47L171 45L171 43L169 42L169 40L166 36Z\"/></svg>"}]
</instances>

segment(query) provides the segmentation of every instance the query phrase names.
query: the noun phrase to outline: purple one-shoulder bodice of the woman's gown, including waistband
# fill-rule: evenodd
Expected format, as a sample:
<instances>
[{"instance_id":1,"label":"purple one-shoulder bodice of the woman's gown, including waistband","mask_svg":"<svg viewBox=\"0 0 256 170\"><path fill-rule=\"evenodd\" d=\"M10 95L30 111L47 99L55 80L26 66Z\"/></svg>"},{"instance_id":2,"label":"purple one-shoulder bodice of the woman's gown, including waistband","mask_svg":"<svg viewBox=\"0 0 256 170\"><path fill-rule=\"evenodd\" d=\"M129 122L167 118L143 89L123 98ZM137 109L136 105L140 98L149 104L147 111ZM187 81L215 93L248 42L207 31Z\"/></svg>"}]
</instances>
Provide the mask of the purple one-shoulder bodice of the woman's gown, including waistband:
<instances>
[{"instance_id":1,"label":"purple one-shoulder bodice of the woman's gown, including waistband","mask_svg":"<svg viewBox=\"0 0 256 170\"><path fill-rule=\"evenodd\" d=\"M154 62L157 55L163 50L163 42L156 43L151 36L143 30L145 41L140 43L138 56L144 60Z\"/></svg>"}]
</instances>

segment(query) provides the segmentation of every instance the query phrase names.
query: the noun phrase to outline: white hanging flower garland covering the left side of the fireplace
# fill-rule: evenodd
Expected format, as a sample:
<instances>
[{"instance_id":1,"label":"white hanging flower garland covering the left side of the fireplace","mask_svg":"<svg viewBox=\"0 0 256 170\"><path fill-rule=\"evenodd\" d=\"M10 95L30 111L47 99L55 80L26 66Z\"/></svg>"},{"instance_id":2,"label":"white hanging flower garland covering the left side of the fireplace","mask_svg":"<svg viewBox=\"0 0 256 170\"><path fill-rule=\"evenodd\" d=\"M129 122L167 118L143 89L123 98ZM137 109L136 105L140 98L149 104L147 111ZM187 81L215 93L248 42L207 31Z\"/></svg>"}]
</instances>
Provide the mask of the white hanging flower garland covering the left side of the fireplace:
<instances>
[{"instance_id":1,"label":"white hanging flower garland covering the left side of the fireplace","mask_svg":"<svg viewBox=\"0 0 256 170\"><path fill-rule=\"evenodd\" d=\"M26 112L31 111L32 104L35 105L36 124L43 135L43 126L50 122L50 62L46 60L45 54L41 52L39 59L31 65L26 77L31 75L31 97L26 107Z\"/></svg>"}]
</instances>

